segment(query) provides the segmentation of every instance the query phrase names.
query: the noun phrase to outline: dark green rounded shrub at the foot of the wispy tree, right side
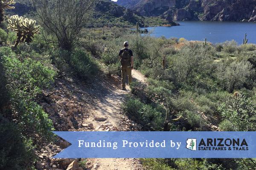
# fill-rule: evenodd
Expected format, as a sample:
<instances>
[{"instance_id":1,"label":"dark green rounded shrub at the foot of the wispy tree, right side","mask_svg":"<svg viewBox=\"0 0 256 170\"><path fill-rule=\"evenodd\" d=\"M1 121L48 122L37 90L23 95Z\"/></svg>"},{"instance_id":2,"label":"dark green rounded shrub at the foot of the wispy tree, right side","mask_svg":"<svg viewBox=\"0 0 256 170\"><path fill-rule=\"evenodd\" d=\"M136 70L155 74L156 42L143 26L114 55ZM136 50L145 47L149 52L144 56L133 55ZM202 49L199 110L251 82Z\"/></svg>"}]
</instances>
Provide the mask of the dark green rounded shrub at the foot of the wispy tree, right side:
<instances>
[{"instance_id":1,"label":"dark green rounded shrub at the foot of the wispy tree, right side","mask_svg":"<svg viewBox=\"0 0 256 170\"><path fill-rule=\"evenodd\" d=\"M74 72L83 79L87 79L99 71L96 59L94 59L90 53L84 52L78 48L76 48L70 55L69 64Z\"/></svg>"}]
</instances>

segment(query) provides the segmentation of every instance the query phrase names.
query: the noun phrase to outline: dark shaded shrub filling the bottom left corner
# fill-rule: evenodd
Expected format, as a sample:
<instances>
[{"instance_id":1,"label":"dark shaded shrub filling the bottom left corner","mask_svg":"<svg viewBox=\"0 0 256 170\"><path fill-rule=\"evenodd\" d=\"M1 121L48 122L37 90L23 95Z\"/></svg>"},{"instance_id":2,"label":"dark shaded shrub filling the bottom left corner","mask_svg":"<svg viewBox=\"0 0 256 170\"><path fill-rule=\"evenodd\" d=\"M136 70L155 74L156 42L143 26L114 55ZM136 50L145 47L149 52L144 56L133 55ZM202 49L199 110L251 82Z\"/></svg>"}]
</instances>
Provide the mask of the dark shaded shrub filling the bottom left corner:
<instances>
[{"instance_id":1,"label":"dark shaded shrub filling the bottom left corner","mask_svg":"<svg viewBox=\"0 0 256 170\"><path fill-rule=\"evenodd\" d=\"M0 169L25 170L33 167L35 154L32 141L21 135L17 125L0 120L0 132Z\"/></svg>"}]
</instances>

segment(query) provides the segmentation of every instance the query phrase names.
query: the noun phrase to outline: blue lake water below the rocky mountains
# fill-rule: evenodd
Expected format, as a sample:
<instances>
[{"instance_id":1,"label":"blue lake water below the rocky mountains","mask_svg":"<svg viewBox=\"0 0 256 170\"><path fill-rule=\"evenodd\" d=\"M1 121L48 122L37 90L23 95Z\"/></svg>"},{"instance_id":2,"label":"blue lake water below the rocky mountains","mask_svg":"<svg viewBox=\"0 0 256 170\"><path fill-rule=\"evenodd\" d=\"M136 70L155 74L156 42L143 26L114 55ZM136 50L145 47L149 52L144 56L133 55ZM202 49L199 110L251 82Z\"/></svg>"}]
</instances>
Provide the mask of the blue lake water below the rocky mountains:
<instances>
[{"instance_id":1,"label":"blue lake water below the rocky mountains","mask_svg":"<svg viewBox=\"0 0 256 170\"><path fill-rule=\"evenodd\" d=\"M222 43L235 40L242 44L247 33L248 43L256 44L256 23L250 22L216 22L216 21L178 21L180 26L148 27L155 37L177 37L186 40L201 40L207 38L211 43ZM143 28L144 29L144 28Z\"/></svg>"}]
</instances>

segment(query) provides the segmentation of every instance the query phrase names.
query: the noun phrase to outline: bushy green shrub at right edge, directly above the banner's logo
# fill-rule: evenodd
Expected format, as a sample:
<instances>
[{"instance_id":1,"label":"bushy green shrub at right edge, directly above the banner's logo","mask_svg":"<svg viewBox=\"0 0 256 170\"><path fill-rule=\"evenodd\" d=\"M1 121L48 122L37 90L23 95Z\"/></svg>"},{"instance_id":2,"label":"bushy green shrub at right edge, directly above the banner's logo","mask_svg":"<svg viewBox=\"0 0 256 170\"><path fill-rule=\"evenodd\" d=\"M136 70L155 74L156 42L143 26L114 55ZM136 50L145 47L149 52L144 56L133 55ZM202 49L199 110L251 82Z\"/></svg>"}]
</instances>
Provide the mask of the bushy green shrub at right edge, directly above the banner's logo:
<instances>
[{"instance_id":1,"label":"bushy green shrub at right edge, directly above the banner's logo","mask_svg":"<svg viewBox=\"0 0 256 170\"><path fill-rule=\"evenodd\" d=\"M218 107L218 111L226 119L222 127L230 122L232 129L236 131L255 131L256 130L256 104L251 98L243 94L235 97L227 97ZM225 123L225 124L224 124Z\"/></svg>"}]
</instances>

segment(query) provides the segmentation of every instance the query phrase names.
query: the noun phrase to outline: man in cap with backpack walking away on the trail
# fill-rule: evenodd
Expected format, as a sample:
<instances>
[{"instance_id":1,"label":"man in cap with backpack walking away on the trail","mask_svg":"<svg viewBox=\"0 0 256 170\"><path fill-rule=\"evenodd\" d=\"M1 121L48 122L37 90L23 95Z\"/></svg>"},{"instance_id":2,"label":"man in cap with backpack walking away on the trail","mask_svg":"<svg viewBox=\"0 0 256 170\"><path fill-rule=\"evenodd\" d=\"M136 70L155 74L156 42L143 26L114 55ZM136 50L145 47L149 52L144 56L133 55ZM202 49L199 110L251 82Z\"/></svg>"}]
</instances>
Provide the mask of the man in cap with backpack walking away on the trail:
<instances>
[{"instance_id":1,"label":"man in cap with backpack walking away on the trail","mask_svg":"<svg viewBox=\"0 0 256 170\"><path fill-rule=\"evenodd\" d=\"M132 82L131 77L131 70L134 66L134 60L133 60L133 53L131 49L128 49L129 43L128 41L124 42L124 49L121 49L119 52L119 60L121 62L121 71L122 71L122 89L125 89L125 81L126 81L126 75L128 75L129 78L129 84Z\"/></svg>"}]
</instances>

